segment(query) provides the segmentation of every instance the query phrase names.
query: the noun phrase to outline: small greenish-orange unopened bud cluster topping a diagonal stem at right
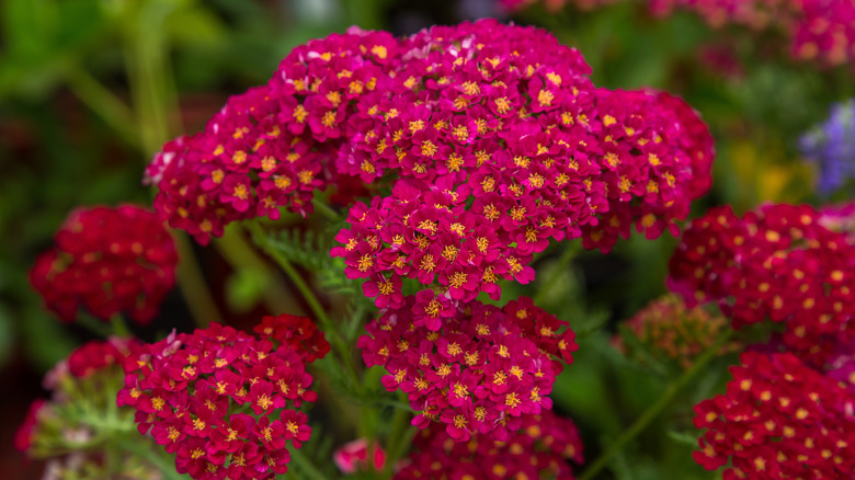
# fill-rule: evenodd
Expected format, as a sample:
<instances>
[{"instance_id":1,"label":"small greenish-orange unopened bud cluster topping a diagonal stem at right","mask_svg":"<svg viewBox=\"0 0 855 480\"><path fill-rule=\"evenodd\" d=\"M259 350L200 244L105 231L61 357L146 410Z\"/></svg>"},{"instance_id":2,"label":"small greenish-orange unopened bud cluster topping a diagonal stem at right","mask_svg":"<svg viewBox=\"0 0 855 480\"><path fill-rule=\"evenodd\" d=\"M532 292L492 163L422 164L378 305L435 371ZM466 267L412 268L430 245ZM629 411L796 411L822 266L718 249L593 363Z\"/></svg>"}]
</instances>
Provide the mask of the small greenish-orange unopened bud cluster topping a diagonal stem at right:
<instances>
[{"instance_id":1,"label":"small greenish-orange unopened bud cluster topping a diagonal stem at right","mask_svg":"<svg viewBox=\"0 0 855 480\"><path fill-rule=\"evenodd\" d=\"M632 342L616 336L616 346L632 358L643 363L647 355L657 362L674 363L687 369L695 358L705 352L728 327L720 315L714 315L705 306L694 308L674 295L668 295L648 304L624 325ZM642 352L635 352L638 344ZM736 351L737 344L722 345L719 353Z\"/></svg>"}]
</instances>

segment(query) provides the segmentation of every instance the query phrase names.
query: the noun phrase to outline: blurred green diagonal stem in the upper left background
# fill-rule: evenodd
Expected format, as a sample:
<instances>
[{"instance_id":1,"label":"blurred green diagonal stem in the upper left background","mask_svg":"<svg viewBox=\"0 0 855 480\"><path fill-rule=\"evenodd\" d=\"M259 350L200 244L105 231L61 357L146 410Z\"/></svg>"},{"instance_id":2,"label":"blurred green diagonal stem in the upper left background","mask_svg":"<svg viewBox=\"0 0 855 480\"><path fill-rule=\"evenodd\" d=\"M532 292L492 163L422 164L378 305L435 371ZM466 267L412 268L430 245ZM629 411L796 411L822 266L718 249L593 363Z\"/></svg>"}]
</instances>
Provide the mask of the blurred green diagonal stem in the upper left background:
<instances>
[{"instance_id":1,"label":"blurred green diagonal stem in the upper left background","mask_svg":"<svg viewBox=\"0 0 855 480\"><path fill-rule=\"evenodd\" d=\"M82 67L70 67L65 78L68 88L81 102L106 122L123 140L139 148L134 113L124 102Z\"/></svg>"}]
</instances>

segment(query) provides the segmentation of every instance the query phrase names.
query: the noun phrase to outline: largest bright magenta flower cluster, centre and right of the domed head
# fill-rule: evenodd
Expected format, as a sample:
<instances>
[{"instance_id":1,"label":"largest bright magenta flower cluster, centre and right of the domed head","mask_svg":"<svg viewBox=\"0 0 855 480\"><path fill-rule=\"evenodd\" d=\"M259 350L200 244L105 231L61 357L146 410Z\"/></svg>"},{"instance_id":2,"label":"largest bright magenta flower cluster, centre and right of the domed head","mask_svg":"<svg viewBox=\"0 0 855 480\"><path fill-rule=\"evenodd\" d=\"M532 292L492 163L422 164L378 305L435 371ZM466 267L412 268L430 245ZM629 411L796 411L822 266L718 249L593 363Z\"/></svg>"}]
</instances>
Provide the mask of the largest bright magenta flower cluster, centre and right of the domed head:
<instances>
[{"instance_id":1,"label":"largest bright magenta flower cluster, centre and right of the domed head","mask_svg":"<svg viewBox=\"0 0 855 480\"><path fill-rule=\"evenodd\" d=\"M361 100L375 114L338 158L365 182L402 180L356 204L332 250L374 295L392 290L394 308L401 276L497 297L499 278L534 278L550 239L607 251L632 225L676 232L709 187L713 139L688 105L594 88L582 56L544 31L482 21L402 45L397 94Z\"/></svg>"}]
</instances>

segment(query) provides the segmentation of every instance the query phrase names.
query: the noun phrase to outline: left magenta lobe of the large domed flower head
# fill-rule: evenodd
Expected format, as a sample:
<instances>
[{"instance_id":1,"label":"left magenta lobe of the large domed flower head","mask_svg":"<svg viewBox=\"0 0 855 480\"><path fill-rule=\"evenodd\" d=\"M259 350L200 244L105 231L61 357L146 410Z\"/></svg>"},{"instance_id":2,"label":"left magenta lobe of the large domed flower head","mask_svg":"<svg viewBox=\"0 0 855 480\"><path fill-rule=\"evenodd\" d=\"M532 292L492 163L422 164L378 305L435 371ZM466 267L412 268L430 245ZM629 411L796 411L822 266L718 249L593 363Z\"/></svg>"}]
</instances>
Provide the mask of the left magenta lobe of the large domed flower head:
<instances>
[{"instance_id":1,"label":"left magenta lobe of the large domed flower head","mask_svg":"<svg viewBox=\"0 0 855 480\"><path fill-rule=\"evenodd\" d=\"M335 181L338 150L366 115L356 101L390 94L397 52L390 34L358 28L298 46L266 85L155 156L155 208L203 244L235 220L312 212L312 193Z\"/></svg>"}]
</instances>

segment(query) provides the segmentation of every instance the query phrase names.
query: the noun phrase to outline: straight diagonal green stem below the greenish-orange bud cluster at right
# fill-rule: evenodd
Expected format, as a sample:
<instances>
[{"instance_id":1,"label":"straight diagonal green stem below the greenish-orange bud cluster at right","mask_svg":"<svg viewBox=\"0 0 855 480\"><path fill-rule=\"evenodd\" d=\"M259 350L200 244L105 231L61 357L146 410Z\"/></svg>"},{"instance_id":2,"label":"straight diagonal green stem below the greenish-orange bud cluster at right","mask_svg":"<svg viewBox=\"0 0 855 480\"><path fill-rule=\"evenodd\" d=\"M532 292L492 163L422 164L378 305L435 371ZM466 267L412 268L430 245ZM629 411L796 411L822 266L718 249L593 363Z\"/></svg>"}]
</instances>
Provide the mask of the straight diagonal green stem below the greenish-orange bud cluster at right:
<instances>
[{"instance_id":1,"label":"straight diagonal green stem below the greenish-orange bud cluster at right","mask_svg":"<svg viewBox=\"0 0 855 480\"><path fill-rule=\"evenodd\" d=\"M716 342L709 346L697 359L697 362L692 366L692 368L687 369L680 378L672 381L665 390L662 392L662 396L659 397L659 400L656 401L652 405L650 405L642 414L639 416L635 423L632 423L627 430L624 431L624 433L620 434L619 437L617 437L616 441L612 442L608 448L603 452L600 457L597 457L594 461L589 464L588 468L584 472L582 472L581 476L579 476L579 480L591 480L594 478L596 473L600 472L600 470L603 469L603 467L608 464L608 460L612 459L615 455L617 455L624 446L635 438L638 434L645 431L645 428L652 422L657 416L659 416L660 413L668 407L671 401L674 399L674 397L682 390L686 385L688 385L689 381L692 381L698 373L700 373L706 366L709 364L709 362L713 361L721 351L721 346L727 343L728 340L730 340L730 336L733 334L733 330L727 330L726 332L722 332L721 336L719 336Z\"/></svg>"}]
</instances>

